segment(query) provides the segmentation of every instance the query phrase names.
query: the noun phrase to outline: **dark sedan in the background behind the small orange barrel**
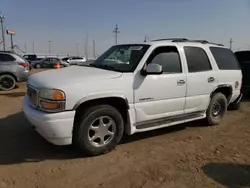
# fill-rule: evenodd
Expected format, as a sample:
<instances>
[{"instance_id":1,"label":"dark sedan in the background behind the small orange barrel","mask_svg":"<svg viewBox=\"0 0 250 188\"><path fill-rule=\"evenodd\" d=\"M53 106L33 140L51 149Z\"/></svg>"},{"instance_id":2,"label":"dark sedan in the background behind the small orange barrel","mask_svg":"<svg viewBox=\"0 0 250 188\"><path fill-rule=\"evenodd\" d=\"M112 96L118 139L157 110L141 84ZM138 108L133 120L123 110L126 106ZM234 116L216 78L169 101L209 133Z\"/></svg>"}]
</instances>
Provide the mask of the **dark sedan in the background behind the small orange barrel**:
<instances>
[{"instance_id":1,"label":"dark sedan in the background behind the small orange barrel","mask_svg":"<svg viewBox=\"0 0 250 188\"><path fill-rule=\"evenodd\" d=\"M32 61L31 65L34 68L40 69L40 68L54 68L54 63L59 62L60 67L68 67L69 64L65 61L62 61L59 58L54 58L54 57L49 57L49 58L44 58L38 61Z\"/></svg>"}]
</instances>

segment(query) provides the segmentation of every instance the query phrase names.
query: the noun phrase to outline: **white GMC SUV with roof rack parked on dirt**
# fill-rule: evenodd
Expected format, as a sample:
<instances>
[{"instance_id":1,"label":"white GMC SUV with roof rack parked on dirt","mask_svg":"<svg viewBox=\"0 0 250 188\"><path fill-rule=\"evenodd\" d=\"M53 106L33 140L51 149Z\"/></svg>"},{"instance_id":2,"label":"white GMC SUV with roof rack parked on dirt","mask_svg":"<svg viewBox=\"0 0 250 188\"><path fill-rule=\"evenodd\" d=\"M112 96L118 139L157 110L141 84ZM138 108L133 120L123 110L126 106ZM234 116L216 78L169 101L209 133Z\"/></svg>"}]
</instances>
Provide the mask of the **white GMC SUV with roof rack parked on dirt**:
<instances>
[{"instance_id":1,"label":"white GMC SUV with roof rack parked on dirt","mask_svg":"<svg viewBox=\"0 0 250 188\"><path fill-rule=\"evenodd\" d=\"M162 39L115 45L94 63L30 76L23 110L56 145L88 155L132 135L189 121L221 122L241 100L242 73L231 50L207 41Z\"/></svg>"}]
</instances>

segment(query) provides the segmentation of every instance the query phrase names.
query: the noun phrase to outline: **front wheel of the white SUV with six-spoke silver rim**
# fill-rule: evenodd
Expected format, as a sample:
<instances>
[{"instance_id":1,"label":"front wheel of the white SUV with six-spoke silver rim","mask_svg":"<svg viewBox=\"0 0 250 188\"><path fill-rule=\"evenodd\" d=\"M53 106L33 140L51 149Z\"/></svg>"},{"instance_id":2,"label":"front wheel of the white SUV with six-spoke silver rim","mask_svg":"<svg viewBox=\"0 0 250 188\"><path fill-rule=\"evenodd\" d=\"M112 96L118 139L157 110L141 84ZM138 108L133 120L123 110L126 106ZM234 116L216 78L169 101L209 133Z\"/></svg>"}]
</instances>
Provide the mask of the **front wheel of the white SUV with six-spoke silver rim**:
<instances>
[{"instance_id":1,"label":"front wheel of the white SUV with six-spoke silver rim","mask_svg":"<svg viewBox=\"0 0 250 188\"><path fill-rule=\"evenodd\" d=\"M103 124L101 124L100 119L104 122ZM111 125L107 129L108 124ZM90 107L83 112L82 116L80 115L79 121L76 122L73 131L73 144L88 156L101 155L112 151L118 145L123 136L123 131L124 121L116 108L110 105ZM103 136L110 132L113 135Z\"/></svg>"}]
</instances>

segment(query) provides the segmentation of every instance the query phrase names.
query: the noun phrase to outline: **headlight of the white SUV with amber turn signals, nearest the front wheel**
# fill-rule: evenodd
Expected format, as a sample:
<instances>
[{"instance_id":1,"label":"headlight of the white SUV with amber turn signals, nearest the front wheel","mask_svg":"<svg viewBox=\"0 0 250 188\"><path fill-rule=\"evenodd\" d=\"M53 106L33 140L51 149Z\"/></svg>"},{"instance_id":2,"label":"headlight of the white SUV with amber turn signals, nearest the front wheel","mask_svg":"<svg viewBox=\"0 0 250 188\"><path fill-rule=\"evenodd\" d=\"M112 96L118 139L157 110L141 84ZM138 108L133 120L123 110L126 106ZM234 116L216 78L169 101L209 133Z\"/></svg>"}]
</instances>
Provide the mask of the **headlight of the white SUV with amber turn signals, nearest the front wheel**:
<instances>
[{"instance_id":1,"label":"headlight of the white SUV with amber turn signals, nearest the front wheel","mask_svg":"<svg viewBox=\"0 0 250 188\"><path fill-rule=\"evenodd\" d=\"M65 109L65 93L57 89L39 91L39 107L48 112L60 112Z\"/></svg>"}]
</instances>

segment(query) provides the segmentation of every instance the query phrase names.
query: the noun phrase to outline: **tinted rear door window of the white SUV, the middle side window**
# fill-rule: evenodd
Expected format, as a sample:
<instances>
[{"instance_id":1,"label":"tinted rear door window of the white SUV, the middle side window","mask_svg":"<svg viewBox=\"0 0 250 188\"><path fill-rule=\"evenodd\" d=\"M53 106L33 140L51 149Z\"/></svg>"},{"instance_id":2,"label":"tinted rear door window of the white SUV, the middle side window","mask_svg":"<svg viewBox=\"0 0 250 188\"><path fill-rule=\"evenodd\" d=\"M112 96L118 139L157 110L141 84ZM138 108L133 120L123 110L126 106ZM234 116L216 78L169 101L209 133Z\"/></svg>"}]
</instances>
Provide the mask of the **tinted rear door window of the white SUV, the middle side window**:
<instances>
[{"instance_id":1,"label":"tinted rear door window of the white SUV, the middle side window","mask_svg":"<svg viewBox=\"0 0 250 188\"><path fill-rule=\"evenodd\" d=\"M212 70L206 52L199 47L184 47L189 72Z\"/></svg>"}]
</instances>

